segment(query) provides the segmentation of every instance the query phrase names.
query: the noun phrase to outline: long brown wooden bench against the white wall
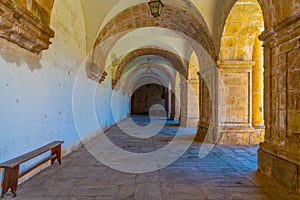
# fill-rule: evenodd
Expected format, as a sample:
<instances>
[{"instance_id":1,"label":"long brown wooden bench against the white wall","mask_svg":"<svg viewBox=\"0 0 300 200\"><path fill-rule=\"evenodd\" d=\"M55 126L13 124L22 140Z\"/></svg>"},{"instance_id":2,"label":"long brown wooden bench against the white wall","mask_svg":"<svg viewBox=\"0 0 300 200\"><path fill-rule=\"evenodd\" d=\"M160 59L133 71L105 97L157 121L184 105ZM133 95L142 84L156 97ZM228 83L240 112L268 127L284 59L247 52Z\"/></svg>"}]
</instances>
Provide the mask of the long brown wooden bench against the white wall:
<instances>
[{"instance_id":1,"label":"long brown wooden bench against the white wall","mask_svg":"<svg viewBox=\"0 0 300 200\"><path fill-rule=\"evenodd\" d=\"M35 169L36 167L46 163L47 161L51 160L51 165L54 164L55 160L61 164L61 144L64 143L63 141L55 141L51 142L43 147L40 147L34 151L26 153L22 156L9 160L0 164L0 168L4 168L4 178L2 182L2 194L1 198L4 197L4 194L8 192L10 189L13 193L13 196L17 196L17 187L18 187L18 179L22 176L28 174L31 170ZM20 164L35 158L47 151L51 150L51 156L44 158L34 166L30 167L29 169L23 171L19 174Z\"/></svg>"}]
</instances>

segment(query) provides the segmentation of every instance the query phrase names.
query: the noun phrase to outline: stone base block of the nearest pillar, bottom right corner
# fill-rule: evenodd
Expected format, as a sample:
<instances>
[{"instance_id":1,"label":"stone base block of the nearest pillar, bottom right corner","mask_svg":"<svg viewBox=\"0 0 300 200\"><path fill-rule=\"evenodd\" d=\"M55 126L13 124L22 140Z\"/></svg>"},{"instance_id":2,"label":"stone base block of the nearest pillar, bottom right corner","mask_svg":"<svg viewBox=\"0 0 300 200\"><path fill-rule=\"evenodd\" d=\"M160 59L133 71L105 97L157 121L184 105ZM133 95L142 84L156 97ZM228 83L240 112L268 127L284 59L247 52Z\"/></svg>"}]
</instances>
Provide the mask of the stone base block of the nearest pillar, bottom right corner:
<instances>
[{"instance_id":1,"label":"stone base block of the nearest pillar, bottom right corner","mask_svg":"<svg viewBox=\"0 0 300 200\"><path fill-rule=\"evenodd\" d=\"M291 192L300 194L300 161L290 153L261 143L258 150L258 170L285 185Z\"/></svg>"}]
</instances>

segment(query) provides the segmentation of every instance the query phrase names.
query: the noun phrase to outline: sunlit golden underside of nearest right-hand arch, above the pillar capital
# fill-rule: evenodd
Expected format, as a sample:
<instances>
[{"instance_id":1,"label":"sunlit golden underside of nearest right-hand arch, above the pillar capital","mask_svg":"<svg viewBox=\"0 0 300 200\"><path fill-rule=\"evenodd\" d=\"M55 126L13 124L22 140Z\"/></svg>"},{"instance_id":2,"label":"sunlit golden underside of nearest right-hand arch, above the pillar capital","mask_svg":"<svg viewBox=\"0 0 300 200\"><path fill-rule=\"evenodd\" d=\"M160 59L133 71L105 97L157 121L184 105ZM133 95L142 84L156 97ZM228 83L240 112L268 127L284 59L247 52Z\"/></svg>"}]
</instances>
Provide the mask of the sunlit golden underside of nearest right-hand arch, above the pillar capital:
<instances>
[{"instance_id":1,"label":"sunlit golden underside of nearest right-hand arch, above the pillar capital","mask_svg":"<svg viewBox=\"0 0 300 200\"><path fill-rule=\"evenodd\" d=\"M224 25L219 60L252 60L254 41L263 26L263 14L257 0L238 0Z\"/></svg>"}]
</instances>

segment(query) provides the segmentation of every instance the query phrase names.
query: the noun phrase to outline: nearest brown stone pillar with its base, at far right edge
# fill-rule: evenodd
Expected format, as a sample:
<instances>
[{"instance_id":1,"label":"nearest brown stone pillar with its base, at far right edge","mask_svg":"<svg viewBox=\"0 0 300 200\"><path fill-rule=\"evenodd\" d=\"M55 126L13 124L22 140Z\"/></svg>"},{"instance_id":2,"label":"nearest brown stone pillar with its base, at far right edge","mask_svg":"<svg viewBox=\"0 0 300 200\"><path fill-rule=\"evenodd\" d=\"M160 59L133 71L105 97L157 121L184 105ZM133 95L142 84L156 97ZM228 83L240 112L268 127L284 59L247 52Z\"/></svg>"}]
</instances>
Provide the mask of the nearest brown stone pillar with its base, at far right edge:
<instances>
[{"instance_id":1,"label":"nearest brown stone pillar with its base, at far right edge","mask_svg":"<svg viewBox=\"0 0 300 200\"><path fill-rule=\"evenodd\" d=\"M265 141L258 168L300 193L300 14L266 30L264 41Z\"/></svg>"}]
</instances>

